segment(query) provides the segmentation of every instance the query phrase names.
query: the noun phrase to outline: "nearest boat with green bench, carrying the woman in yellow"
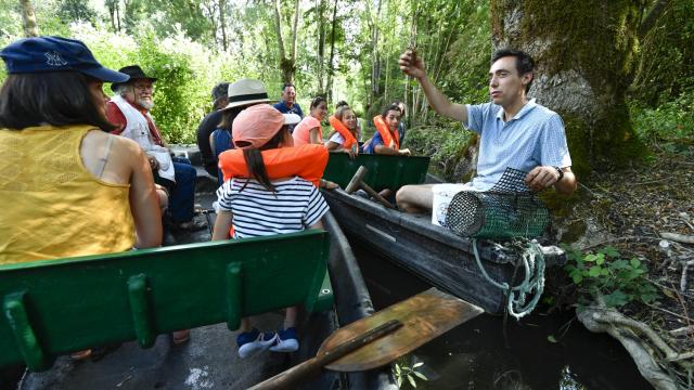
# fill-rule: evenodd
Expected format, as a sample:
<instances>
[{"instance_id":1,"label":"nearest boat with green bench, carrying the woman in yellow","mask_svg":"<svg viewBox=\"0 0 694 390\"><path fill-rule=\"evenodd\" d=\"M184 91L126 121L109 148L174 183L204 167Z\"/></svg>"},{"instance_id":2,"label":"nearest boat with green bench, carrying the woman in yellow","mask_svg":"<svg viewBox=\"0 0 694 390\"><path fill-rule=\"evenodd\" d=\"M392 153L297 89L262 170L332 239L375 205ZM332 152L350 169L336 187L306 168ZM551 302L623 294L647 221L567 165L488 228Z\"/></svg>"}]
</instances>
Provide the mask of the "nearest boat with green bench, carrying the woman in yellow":
<instances>
[{"instance_id":1,"label":"nearest boat with green bench, carrying the woman in yellow","mask_svg":"<svg viewBox=\"0 0 694 390\"><path fill-rule=\"evenodd\" d=\"M313 356L337 326L374 311L332 216L325 226L327 232L0 266L0 369L26 365L18 388L31 390L245 389ZM272 329L282 323L277 310L294 304L306 309L298 352L236 356L229 329L241 317L255 315L258 327ZM184 328L193 330L183 346L157 337ZM98 362L64 356L121 342ZM380 369L323 372L303 388L395 386Z\"/></svg>"}]
</instances>

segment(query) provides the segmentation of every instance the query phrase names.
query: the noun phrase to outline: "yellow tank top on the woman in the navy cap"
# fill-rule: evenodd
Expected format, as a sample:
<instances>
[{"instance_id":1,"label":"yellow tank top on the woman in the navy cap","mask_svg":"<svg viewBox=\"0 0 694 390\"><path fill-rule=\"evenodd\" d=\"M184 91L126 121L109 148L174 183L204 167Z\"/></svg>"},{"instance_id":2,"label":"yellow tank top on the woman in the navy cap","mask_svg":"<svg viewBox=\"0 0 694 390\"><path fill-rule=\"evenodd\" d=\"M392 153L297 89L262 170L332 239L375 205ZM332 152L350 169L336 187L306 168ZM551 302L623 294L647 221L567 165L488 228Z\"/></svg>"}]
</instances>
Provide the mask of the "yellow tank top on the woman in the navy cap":
<instances>
[{"instance_id":1,"label":"yellow tank top on the woman in the navy cap","mask_svg":"<svg viewBox=\"0 0 694 390\"><path fill-rule=\"evenodd\" d=\"M0 264L132 248L130 185L87 170L79 147L90 130L0 129Z\"/></svg>"}]
</instances>

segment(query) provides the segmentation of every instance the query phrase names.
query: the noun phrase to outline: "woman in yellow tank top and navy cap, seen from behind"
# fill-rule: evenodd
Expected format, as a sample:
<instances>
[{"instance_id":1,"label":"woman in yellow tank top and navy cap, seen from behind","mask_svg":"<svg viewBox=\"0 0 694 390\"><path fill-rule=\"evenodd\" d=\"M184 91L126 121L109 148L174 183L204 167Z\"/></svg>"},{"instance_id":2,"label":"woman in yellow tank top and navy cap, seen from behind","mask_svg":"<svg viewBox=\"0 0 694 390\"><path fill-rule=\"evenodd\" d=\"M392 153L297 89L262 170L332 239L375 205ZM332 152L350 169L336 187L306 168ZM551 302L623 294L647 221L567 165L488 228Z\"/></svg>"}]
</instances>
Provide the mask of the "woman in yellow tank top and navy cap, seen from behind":
<instances>
[{"instance_id":1,"label":"woman in yellow tank top and navy cap, seen from behind","mask_svg":"<svg viewBox=\"0 0 694 390\"><path fill-rule=\"evenodd\" d=\"M156 247L160 211L144 154L111 135L103 67L85 43L22 39L0 52L0 264Z\"/></svg>"}]
</instances>

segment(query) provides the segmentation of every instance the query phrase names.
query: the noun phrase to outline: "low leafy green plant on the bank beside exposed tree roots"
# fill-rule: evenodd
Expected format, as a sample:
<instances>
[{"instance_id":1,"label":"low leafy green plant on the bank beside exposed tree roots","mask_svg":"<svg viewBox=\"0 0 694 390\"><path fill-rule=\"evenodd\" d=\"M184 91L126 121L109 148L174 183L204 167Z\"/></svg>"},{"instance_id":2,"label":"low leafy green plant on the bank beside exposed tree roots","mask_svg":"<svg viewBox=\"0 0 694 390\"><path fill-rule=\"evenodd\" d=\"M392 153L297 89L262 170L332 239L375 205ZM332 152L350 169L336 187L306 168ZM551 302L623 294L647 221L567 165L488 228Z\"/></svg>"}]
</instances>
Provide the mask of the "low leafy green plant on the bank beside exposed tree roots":
<instances>
[{"instance_id":1,"label":"low leafy green plant on the bank beside exposed tree roots","mask_svg":"<svg viewBox=\"0 0 694 390\"><path fill-rule=\"evenodd\" d=\"M650 303L658 298L655 286L646 278L646 265L637 258L622 259L614 247L604 247L594 253L567 249L567 257L564 270L584 292L580 297L581 306L599 297L607 307L621 307L631 301Z\"/></svg>"}]
</instances>

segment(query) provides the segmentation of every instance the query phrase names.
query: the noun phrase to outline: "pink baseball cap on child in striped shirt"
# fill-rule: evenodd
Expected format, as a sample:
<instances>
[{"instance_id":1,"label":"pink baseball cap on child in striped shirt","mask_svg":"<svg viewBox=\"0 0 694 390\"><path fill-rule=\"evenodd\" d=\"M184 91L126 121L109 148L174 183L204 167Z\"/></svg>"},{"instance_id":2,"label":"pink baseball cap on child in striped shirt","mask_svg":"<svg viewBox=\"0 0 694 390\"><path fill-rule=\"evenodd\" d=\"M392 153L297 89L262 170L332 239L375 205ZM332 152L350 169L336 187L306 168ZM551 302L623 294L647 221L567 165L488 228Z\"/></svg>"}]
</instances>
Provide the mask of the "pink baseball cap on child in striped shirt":
<instances>
[{"instance_id":1,"label":"pink baseball cap on child in striped shirt","mask_svg":"<svg viewBox=\"0 0 694 390\"><path fill-rule=\"evenodd\" d=\"M270 141L284 125L296 125L296 114L282 114L269 104L257 104L242 110L231 126L234 145L239 148L259 148Z\"/></svg>"}]
</instances>

